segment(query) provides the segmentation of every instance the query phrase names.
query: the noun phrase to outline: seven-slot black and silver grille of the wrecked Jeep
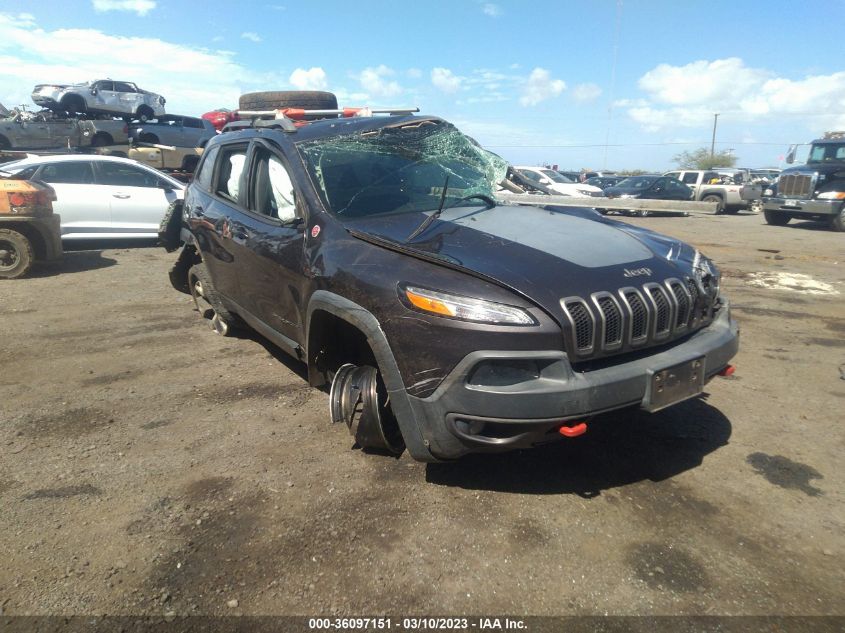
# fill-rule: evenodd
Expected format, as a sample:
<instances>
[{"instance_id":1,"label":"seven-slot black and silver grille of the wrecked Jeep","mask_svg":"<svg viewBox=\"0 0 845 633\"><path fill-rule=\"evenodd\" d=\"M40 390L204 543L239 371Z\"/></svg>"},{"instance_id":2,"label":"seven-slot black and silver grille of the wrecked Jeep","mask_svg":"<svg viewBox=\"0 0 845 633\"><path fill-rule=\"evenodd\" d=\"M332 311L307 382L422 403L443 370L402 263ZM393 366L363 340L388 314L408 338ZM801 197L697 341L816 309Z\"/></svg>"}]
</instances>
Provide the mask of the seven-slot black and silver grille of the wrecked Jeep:
<instances>
[{"instance_id":1,"label":"seven-slot black and silver grille of the wrecked Jeep","mask_svg":"<svg viewBox=\"0 0 845 633\"><path fill-rule=\"evenodd\" d=\"M597 292L561 301L569 318L567 349L578 357L665 342L712 318L712 299L690 278Z\"/></svg>"}]
</instances>

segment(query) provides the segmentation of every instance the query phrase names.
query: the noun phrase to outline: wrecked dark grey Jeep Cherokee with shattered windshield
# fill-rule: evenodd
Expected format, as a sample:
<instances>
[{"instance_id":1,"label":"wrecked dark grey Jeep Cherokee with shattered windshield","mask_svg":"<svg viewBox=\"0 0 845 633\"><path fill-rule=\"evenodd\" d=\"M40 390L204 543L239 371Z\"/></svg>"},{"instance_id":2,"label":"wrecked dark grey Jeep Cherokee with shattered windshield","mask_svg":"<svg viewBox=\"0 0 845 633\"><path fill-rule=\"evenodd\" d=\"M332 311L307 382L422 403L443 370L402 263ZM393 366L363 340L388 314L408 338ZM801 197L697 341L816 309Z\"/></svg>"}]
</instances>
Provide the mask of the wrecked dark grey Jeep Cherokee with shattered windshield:
<instances>
[{"instance_id":1,"label":"wrecked dark grey Jeep Cherokee with shattered windshield","mask_svg":"<svg viewBox=\"0 0 845 633\"><path fill-rule=\"evenodd\" d=\"M177 220L174 286L331 385L359 447L422 461L574 436L728 375L738 328L687 244L498 202L508 165L436 117L241 122Z\"/></svg>"}]
</instances>

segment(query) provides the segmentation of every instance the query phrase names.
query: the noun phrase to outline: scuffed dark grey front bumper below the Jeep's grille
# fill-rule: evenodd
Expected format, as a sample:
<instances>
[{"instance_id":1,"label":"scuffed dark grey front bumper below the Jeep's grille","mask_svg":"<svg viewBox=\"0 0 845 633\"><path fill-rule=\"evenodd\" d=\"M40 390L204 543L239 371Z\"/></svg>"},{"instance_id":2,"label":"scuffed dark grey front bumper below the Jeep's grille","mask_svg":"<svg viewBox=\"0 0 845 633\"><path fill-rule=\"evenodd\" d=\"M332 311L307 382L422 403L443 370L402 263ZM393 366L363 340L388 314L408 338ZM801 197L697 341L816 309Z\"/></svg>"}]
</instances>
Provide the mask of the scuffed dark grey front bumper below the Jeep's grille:
<instances>
[{"instance_id":1,"label":"scuffed dark grey front bumper below the Jeep's grille","mask_svg":"<svg viewBox=\"0 0 845 633\"><path fill-rule=\"evenodd\" d=\"M704 357L704 376L710 379L738 349L739 328L726 303L706 328L627 362L576 371L559 350L478 351L458 363L433 394L409 400L435 458L525 448L559 439L562 422L644 406L655 371ZM494 367L508 370L497 375L490 371ZM536 371L526 370L530 367ZM532 377L514 382L519 371Z\"/></svg>"}]
</instances>

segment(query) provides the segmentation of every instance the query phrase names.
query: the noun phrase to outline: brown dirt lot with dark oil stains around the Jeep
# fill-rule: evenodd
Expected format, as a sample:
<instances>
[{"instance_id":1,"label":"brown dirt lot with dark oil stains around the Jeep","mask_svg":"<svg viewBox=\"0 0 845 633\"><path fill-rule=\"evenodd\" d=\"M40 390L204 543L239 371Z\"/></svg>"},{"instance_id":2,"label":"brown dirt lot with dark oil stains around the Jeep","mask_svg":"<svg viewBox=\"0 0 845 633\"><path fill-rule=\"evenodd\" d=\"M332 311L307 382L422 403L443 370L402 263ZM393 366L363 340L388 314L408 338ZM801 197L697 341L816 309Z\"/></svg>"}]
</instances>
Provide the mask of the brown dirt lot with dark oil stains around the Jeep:
<instances>
[{"instance_id":1,"label":"brown dirt lot with dark oil stains around the Jeep","mask_svg":"<svg viewBox=\"0 0 845 633\"><path fill-rule=\"evenodd\" d=\"M449 464L353 450L302 367L203 326L161 249L2 283L2 612L845 615L845 236L626 221L720 264L737 374Z\"/></svg>"}]
</instances>

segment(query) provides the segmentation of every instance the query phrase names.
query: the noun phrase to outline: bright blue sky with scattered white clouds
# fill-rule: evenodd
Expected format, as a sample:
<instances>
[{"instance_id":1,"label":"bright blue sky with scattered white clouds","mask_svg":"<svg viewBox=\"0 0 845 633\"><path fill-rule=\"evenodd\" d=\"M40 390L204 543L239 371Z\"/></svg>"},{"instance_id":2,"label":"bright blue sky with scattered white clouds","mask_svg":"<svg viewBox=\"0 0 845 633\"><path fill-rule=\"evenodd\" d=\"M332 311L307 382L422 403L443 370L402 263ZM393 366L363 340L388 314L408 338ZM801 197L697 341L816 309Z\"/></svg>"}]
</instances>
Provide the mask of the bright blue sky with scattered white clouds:
<instances>
[{"instance_id":1,"label":"bright blue sky with scattered white clouds","mask_svg":"<svg viewBox=\"0 0 845 633\"><path fill-rule=\"evenodd\" d=\"M789 143L845 129L842 24L843 0L7 0L0 102L112 77L201 114L321 88L420 106L511 162L567 169L669 169L709 147L718 112L718 149L776 166Z\"/></svg>"}]
</instances>

